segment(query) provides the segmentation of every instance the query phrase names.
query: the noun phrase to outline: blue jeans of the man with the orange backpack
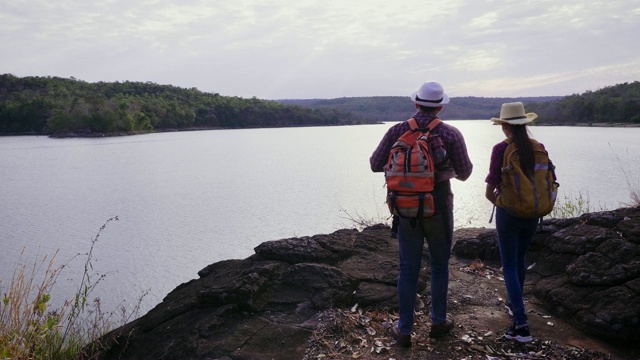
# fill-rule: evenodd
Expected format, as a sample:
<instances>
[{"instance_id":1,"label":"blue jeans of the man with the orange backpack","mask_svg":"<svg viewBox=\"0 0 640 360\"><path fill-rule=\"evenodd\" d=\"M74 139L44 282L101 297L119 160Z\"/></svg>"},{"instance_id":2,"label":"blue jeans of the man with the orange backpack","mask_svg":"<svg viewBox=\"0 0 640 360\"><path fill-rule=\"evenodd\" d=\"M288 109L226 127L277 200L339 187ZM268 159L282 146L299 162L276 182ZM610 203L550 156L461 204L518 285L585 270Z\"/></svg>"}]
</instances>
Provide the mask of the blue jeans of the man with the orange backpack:
<instances>
[{"instance_id":1,"label":"blue jeans of the man with the orange backpack","mask_svg":"<svg viewBox=\"0 0 640 360\"><path fill-rule=\"evenodd\" d=\"M436 204L436 209L438 208ZM398 328L402 334L413 329L413 315L418 291L424 241L429 250L431 269L431 322L441 324L447 319L449 290L449 257L453 240L453 210L444 206L439 214L420 221L400 218L398 224Z\"/></svg>"}]
</instances>

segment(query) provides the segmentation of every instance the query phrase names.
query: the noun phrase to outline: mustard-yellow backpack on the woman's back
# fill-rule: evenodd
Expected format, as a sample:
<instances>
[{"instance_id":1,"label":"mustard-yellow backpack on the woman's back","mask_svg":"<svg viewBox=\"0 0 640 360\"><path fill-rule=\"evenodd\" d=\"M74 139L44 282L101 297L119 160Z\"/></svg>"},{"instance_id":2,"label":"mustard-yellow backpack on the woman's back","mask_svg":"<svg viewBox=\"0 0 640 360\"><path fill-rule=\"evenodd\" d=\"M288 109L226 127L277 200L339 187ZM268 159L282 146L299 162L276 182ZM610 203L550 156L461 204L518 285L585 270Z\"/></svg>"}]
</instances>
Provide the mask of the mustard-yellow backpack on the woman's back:
<instances>
[{"instance_id":1,"label":"mustard-yellow backpack on the woman's back","mask_svg":"<svg viewBox=\"0 0 640 360\"><path fill-rule=\"evenodd\" d=\"M553 210L559 184L555 166L549 154L536 140L531 139L535 157L534 175L528 178L520 167L516 145L505 140L507 149L502 162L502 183L496 205L519 218L539 218Z\"/></svg>"}]
</instances>

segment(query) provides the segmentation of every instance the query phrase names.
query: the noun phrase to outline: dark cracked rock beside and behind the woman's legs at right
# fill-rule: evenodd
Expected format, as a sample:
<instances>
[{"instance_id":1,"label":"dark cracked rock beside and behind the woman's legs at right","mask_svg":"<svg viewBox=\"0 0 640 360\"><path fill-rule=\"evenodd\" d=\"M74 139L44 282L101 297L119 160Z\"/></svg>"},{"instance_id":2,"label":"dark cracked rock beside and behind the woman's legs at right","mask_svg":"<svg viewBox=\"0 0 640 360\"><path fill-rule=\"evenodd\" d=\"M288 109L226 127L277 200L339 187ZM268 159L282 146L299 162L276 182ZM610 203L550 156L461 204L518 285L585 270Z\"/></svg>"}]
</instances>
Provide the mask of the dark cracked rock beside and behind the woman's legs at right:
<instances>
[{"instance_id":1,"label":"dark cracked rock beside and behind the woman's legs at right","mask_svg":"<svg viewBox=\"0 0 640 360\"><path fill-rule=\"evenodd\" d=\"M500 261L495 231L454 253ZM531 292L551 313L602 339L640 341L640 207L545 220L528 260Z\"/></svg>"}]
</instances>

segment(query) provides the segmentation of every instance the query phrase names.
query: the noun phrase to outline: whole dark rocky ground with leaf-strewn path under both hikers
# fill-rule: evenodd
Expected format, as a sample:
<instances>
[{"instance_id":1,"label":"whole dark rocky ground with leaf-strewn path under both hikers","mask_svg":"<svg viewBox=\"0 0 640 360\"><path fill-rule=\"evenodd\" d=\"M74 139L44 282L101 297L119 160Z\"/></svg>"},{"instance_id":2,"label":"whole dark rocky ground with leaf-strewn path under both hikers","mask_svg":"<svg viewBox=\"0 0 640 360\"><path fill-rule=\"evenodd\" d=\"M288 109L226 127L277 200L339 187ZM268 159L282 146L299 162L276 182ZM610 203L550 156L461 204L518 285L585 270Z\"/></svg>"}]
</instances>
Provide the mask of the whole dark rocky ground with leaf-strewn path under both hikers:
<instances>
[{"instance_id":1,"label":"whole dark rocky ground with leaf-strewn path under both hikers","mask_svg":"<svg viewBox=\"0 0 640 360\"><path fill-rule=\"evenodd\" d=\"M429 330L421 273L413 346L395 345L397 240L389 228L268 241L207 266L146 315L100 340L98 359L638 359L640 208L549 219L525 286L534 341L504 339L496 234L460 229L451 259L451 335ZM428 257L425 248L425 259Z\"/></svg>"}]
</instances>

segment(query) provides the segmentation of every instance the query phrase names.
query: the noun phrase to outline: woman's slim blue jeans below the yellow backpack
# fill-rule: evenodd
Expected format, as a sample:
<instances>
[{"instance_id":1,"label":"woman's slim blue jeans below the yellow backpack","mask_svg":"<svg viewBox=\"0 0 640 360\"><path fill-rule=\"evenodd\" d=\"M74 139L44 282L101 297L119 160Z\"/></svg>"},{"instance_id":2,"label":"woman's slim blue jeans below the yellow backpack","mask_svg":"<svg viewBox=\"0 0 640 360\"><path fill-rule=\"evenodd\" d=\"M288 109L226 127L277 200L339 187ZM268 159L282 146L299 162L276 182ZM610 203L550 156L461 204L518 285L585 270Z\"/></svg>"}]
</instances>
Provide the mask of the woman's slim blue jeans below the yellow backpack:
<instances>
[{"instance_id":1,"label":"woman's slim blue jeans below the yellow backpack","mask_svg":"<svg viewBox=\"0 0 640 360\"><path fill-rule=\"evenodd\" d=\"M538 221L538 218L517 218L500 207L496 209L496 230L498 231L504 284L507 288L516 327L527 325L522 293L527 271L527 252L536 232Z\"/></svg>"}]
</instances>

